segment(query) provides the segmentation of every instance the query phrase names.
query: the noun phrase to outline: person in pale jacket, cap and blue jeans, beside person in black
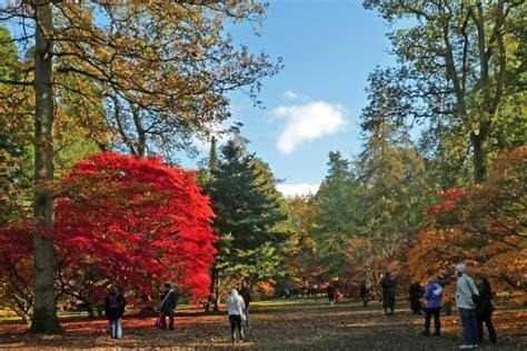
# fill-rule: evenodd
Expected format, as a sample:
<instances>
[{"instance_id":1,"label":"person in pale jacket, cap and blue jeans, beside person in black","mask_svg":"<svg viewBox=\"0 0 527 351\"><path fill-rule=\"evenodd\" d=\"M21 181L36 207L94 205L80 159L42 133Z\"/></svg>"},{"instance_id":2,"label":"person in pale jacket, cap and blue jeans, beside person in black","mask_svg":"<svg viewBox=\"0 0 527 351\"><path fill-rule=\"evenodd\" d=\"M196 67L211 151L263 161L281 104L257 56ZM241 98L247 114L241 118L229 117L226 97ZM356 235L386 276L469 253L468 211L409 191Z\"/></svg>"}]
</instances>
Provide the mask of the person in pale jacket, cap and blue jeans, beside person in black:
<instances>
[{"instance_id":1,"label":"person in pale jacket, cap and blue jeans, beside person in black","mask_svg":"<svg viewBox=\"0 0 527 351\"><path fill-rule=\"evenodd\" d=\"M456 304L463 325L463 344L459 349L474 349L478 347L476 301L479 292L474 280L467 274L467 267L464 263L456 265L456 272L458 275Z\"/></svg>"}]
</instances>

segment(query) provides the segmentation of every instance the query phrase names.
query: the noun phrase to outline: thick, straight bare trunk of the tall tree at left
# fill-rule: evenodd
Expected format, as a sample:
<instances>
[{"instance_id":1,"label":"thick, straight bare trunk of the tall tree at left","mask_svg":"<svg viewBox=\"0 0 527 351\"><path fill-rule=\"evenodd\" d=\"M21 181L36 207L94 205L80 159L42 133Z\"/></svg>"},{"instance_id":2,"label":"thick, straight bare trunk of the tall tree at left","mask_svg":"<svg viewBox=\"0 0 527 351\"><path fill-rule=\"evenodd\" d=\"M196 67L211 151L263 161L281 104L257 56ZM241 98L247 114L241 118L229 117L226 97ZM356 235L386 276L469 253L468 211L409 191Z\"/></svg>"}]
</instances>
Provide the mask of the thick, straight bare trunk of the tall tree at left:
<instances>
[{"instance_id":1,"label":"thick, straight bare trunk of the tall tree at left","mask_svg":"<svg viewBox=\"0 0 527 351\"><path fill-rule=\"evenodd\" d=\"M34 2L34 307L30 331L56 333L60 331L54 293L56 252L53 240L47 235L53 229L53 198L46 190L47 181L53 179L53 68L51 3Z\"/></svg>"}]
</instances>

